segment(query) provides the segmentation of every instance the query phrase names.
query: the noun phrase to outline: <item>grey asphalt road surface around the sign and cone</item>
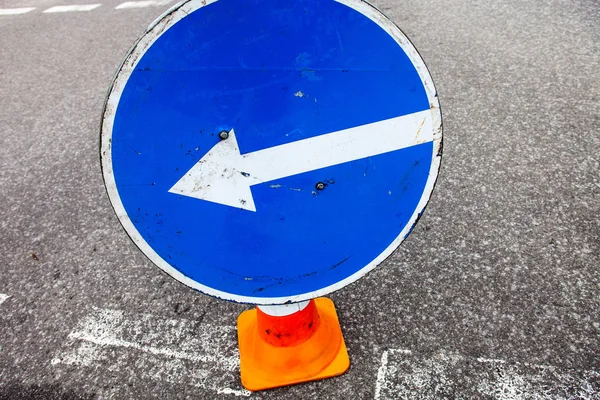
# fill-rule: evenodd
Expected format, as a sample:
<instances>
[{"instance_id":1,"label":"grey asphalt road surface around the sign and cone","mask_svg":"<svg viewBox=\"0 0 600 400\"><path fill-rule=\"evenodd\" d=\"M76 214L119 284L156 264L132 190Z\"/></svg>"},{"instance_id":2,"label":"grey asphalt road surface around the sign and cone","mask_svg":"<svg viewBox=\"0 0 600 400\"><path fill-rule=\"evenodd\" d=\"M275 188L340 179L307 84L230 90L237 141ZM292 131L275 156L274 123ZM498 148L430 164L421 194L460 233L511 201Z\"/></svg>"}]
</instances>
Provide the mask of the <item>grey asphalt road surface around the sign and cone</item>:
<instances>
[{"instance_id":1,"label":"grey asphalt road surface around the sign and cone","mask_svg":"<svg viewBox=\"0 0 600 400\"><path fill-rule=\"evenodd\" d=\"M595 0L375 1L436 82L438 185L330 296L349 371L252 394L249 306L154 267L103 186L106 91L170 5L93 1L0 0L0 399L600 399Z\"/></svg>"}]
</instances>

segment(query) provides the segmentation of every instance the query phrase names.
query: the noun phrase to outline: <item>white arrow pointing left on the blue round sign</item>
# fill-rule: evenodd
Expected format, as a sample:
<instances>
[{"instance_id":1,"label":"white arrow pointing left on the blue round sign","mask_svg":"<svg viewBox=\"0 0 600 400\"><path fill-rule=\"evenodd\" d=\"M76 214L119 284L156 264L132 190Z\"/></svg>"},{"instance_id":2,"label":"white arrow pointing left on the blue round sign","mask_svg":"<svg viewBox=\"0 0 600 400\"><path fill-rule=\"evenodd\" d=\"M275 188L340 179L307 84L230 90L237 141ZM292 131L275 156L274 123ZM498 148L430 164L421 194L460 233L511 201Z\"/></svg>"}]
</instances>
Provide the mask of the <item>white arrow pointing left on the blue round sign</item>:
<instances>
[{"instance_id":1,"label":"white arrow pointing left on the blue round sign","mask_svg":"<svg viewBox=\"0 0 600 400\"><path fill-rule=\"evenodd\" d=\"M251 186L432 140L430 110L248 154L240 153L232 129L169 192L256 211Z\"/></svg>"}]
</instances>

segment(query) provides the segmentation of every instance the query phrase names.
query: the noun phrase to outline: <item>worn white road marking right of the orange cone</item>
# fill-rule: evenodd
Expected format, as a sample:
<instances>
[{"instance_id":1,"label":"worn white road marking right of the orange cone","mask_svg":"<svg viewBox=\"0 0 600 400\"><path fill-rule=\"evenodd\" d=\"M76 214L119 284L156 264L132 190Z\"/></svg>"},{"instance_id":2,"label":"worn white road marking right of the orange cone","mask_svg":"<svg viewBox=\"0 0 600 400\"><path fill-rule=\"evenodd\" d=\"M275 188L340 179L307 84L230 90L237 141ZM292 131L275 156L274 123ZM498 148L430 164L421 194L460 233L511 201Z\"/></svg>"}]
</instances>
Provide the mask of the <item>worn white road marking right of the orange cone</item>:
<instances>
[{"instance_id":1,"label":"worn white road marking right of the orange cone","mask_svg":"<svg viewBox=\"0 0 600 400\"><path fill-rule=\"evenodd\" d=\"M598 400L600 372L473 359L445 352L424 359L410 350L383 352L375 400L439 398Z\"/></svg>"}]
</instances>

